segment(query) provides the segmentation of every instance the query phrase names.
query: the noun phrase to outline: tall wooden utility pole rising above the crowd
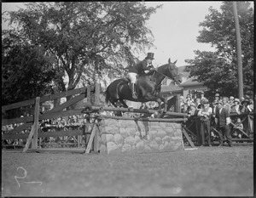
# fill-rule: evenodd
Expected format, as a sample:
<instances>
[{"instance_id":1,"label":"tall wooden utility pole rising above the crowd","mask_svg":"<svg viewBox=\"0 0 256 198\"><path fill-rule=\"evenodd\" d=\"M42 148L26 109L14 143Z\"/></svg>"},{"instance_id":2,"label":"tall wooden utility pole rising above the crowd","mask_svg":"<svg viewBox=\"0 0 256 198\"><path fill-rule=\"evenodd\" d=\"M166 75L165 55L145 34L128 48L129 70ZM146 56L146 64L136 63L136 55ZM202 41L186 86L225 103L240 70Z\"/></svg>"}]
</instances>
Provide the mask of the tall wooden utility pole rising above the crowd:
<instances>
[{"instance_id":1,"label":"tall wooden utility pole rising above the crowd","mask_svg":"<svg viewBox=\"0 0 256 198\"><path fill-rule=\"evenodd\" d=\"M242 80L242 64L241 64L241 34L239 20L237 14L236 2L233 2L233 12L236 26L236 56L237 56L237 72L238 72L238 97L243 97L243 80Z\"/></svg>"}]
</instances>

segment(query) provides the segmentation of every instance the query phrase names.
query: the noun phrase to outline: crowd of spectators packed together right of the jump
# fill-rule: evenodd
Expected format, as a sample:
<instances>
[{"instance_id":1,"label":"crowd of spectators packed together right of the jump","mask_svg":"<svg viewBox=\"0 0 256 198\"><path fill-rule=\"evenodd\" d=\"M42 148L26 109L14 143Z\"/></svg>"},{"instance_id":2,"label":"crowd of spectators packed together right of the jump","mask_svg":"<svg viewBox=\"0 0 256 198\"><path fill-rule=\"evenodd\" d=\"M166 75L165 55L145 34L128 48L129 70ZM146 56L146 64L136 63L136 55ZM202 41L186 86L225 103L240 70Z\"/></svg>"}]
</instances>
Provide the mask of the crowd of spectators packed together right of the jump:
<instances>
[{"instance_id":1,"label":"crowd of spectators packed together right of the jump","mask_svg":"<svg viewBox=\"0 0 256 198\"><path fill-rule=\"evenodd\" d=\"M190 118L200 118L201 122L205 123L205 132L207 134L208 144L211 143L210 139L217 138L215 133L211 133L213 128L218 128L217 117L218 114L218 104L221 105L221 108L224 108L227 111L230 121L227 120L227 126L230 127L230 135L232 138L242 139L245 138L245 133L242 133L242 130L246 130L249 133L253 133L253 120L248 117L248 122L244 124L241 122L241 117L230 116L230 115L241 115L243 113L253 112L253 99L249 95L245 95L244 98L236 99L233 96L222 97L219 93L215 94L215 99L212 102L209 102L208 99L204 97L204 94L201 93L200 97L192 99L191 95L188 94L186 99L180 97L181 111L187 113ZM209 134L209 135L208 135ZM211 137L212 136L212 137ZM218 135L219 136L219 135Z\"/></svg>"}]
</instances>

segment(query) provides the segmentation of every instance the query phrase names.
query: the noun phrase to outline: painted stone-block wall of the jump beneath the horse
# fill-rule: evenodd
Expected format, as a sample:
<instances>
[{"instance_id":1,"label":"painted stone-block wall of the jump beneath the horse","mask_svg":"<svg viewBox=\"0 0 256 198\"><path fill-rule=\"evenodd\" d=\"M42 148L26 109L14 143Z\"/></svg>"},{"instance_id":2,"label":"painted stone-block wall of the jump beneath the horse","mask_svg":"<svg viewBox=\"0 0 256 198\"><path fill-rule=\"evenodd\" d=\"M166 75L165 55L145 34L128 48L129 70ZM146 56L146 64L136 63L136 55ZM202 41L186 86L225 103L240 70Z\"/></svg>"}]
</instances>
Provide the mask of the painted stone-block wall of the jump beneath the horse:
<instances>
[{"instance_id":1,"label":"painted stone-block wall of the jump beneath the horse","mask_svg":"<svg viewBox=\"0 0 256 198\"><path fill-rule=\"evenodd\" d=\"M177 122L104 119L99 146L100 153L108 154L184 150L182 126Z\"/></svg>"}]
</instances>

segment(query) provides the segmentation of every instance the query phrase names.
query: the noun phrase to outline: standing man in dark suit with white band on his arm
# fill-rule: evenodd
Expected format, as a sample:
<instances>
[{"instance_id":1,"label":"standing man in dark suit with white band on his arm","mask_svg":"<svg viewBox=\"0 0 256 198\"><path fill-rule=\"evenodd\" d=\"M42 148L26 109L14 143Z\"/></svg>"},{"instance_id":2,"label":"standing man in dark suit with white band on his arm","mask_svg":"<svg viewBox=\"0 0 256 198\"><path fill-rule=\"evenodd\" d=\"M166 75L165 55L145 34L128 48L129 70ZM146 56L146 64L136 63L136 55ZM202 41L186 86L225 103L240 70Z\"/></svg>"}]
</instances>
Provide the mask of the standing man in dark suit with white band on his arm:
<instances>
[{"instance_id":1,"label":"standing man in dark suit with white band on his arm","mask_svg":"<svg viewBox=\"0 0 256 198\"><path fill-rule=\"evenodd\" d=\"M219 136L219 142L220 144L218 147L223 146L224 138L223 133L226 136L228 140L228 144L230 147L232 147L232 138L230 135L230 113L228 110L226 110L223 106L222 101L217 102L218 110L216 112L215 122L217 124L218 129L218 136Z\"/></svg>"}]
</instances>

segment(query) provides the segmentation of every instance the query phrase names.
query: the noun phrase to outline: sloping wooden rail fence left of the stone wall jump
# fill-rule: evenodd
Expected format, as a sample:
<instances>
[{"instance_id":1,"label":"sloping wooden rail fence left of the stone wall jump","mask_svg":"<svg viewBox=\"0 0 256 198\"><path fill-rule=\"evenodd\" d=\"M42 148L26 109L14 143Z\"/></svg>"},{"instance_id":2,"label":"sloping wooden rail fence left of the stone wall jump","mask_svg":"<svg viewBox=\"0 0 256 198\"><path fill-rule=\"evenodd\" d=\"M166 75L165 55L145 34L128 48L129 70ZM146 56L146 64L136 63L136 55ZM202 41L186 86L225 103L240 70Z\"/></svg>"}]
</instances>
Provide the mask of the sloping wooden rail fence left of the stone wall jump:
<instances>
[{"instance_id":1,"label":"sloping wooden rail fence left of the stone wall jump","mask_svg":"<svg viewBox=\"0 0 256 198\"><path fill-rule=\"evenodd\" d=\"M88 130L89 127L91 126L90 123L86 123L84 125L84 128L79 128L77 130L65 131L62 129L62 130L55 131L54 133L53 132L42 133L42 131L40 130L39 122L46 119L84 114L84 112L82 113L82 110L84 109L80 109L80 110L78 109L64 110L64 109L66 109L70 105L73 105L79 102L81 99L84 99L84 98L87 98L88 105L91 105L91 95L93 93L99 96L100 86L98 84L88 86L87 88L78 88L78 89L70 90L63 93L47 95L41 98L37 97L36 99L29 99L26 101L15 103L15 104L2 106L2 111L12 110L12 109L16 109L16 108L20 108L28 105L35 106L33 116L2 120L2 126L18 123L17 124L18 127L15 127L13 130L10 130L10 131L2 130L2 141L5 140L7 142L7 139L27 139L26 145L24 144L21 145L21 146L24 146L24 151L26 151L30 146L30 144L32 149L38 149L38 138L44 139L48 137L81 136L84 133L90 133L90 131ZM39 112L40 104L44 103L45 101L60 99L67 96L74 96L74 97L72 99L67 100L67 102L63 104L56 106L52 110L46 111L43 114ZM95 97L94 104L95 105L99 104L99 97ZM9 144L7 144L7 146L8 145ZM3 142L2 142L2 146L3 146Z\"/></svg>"}]
</instances>

